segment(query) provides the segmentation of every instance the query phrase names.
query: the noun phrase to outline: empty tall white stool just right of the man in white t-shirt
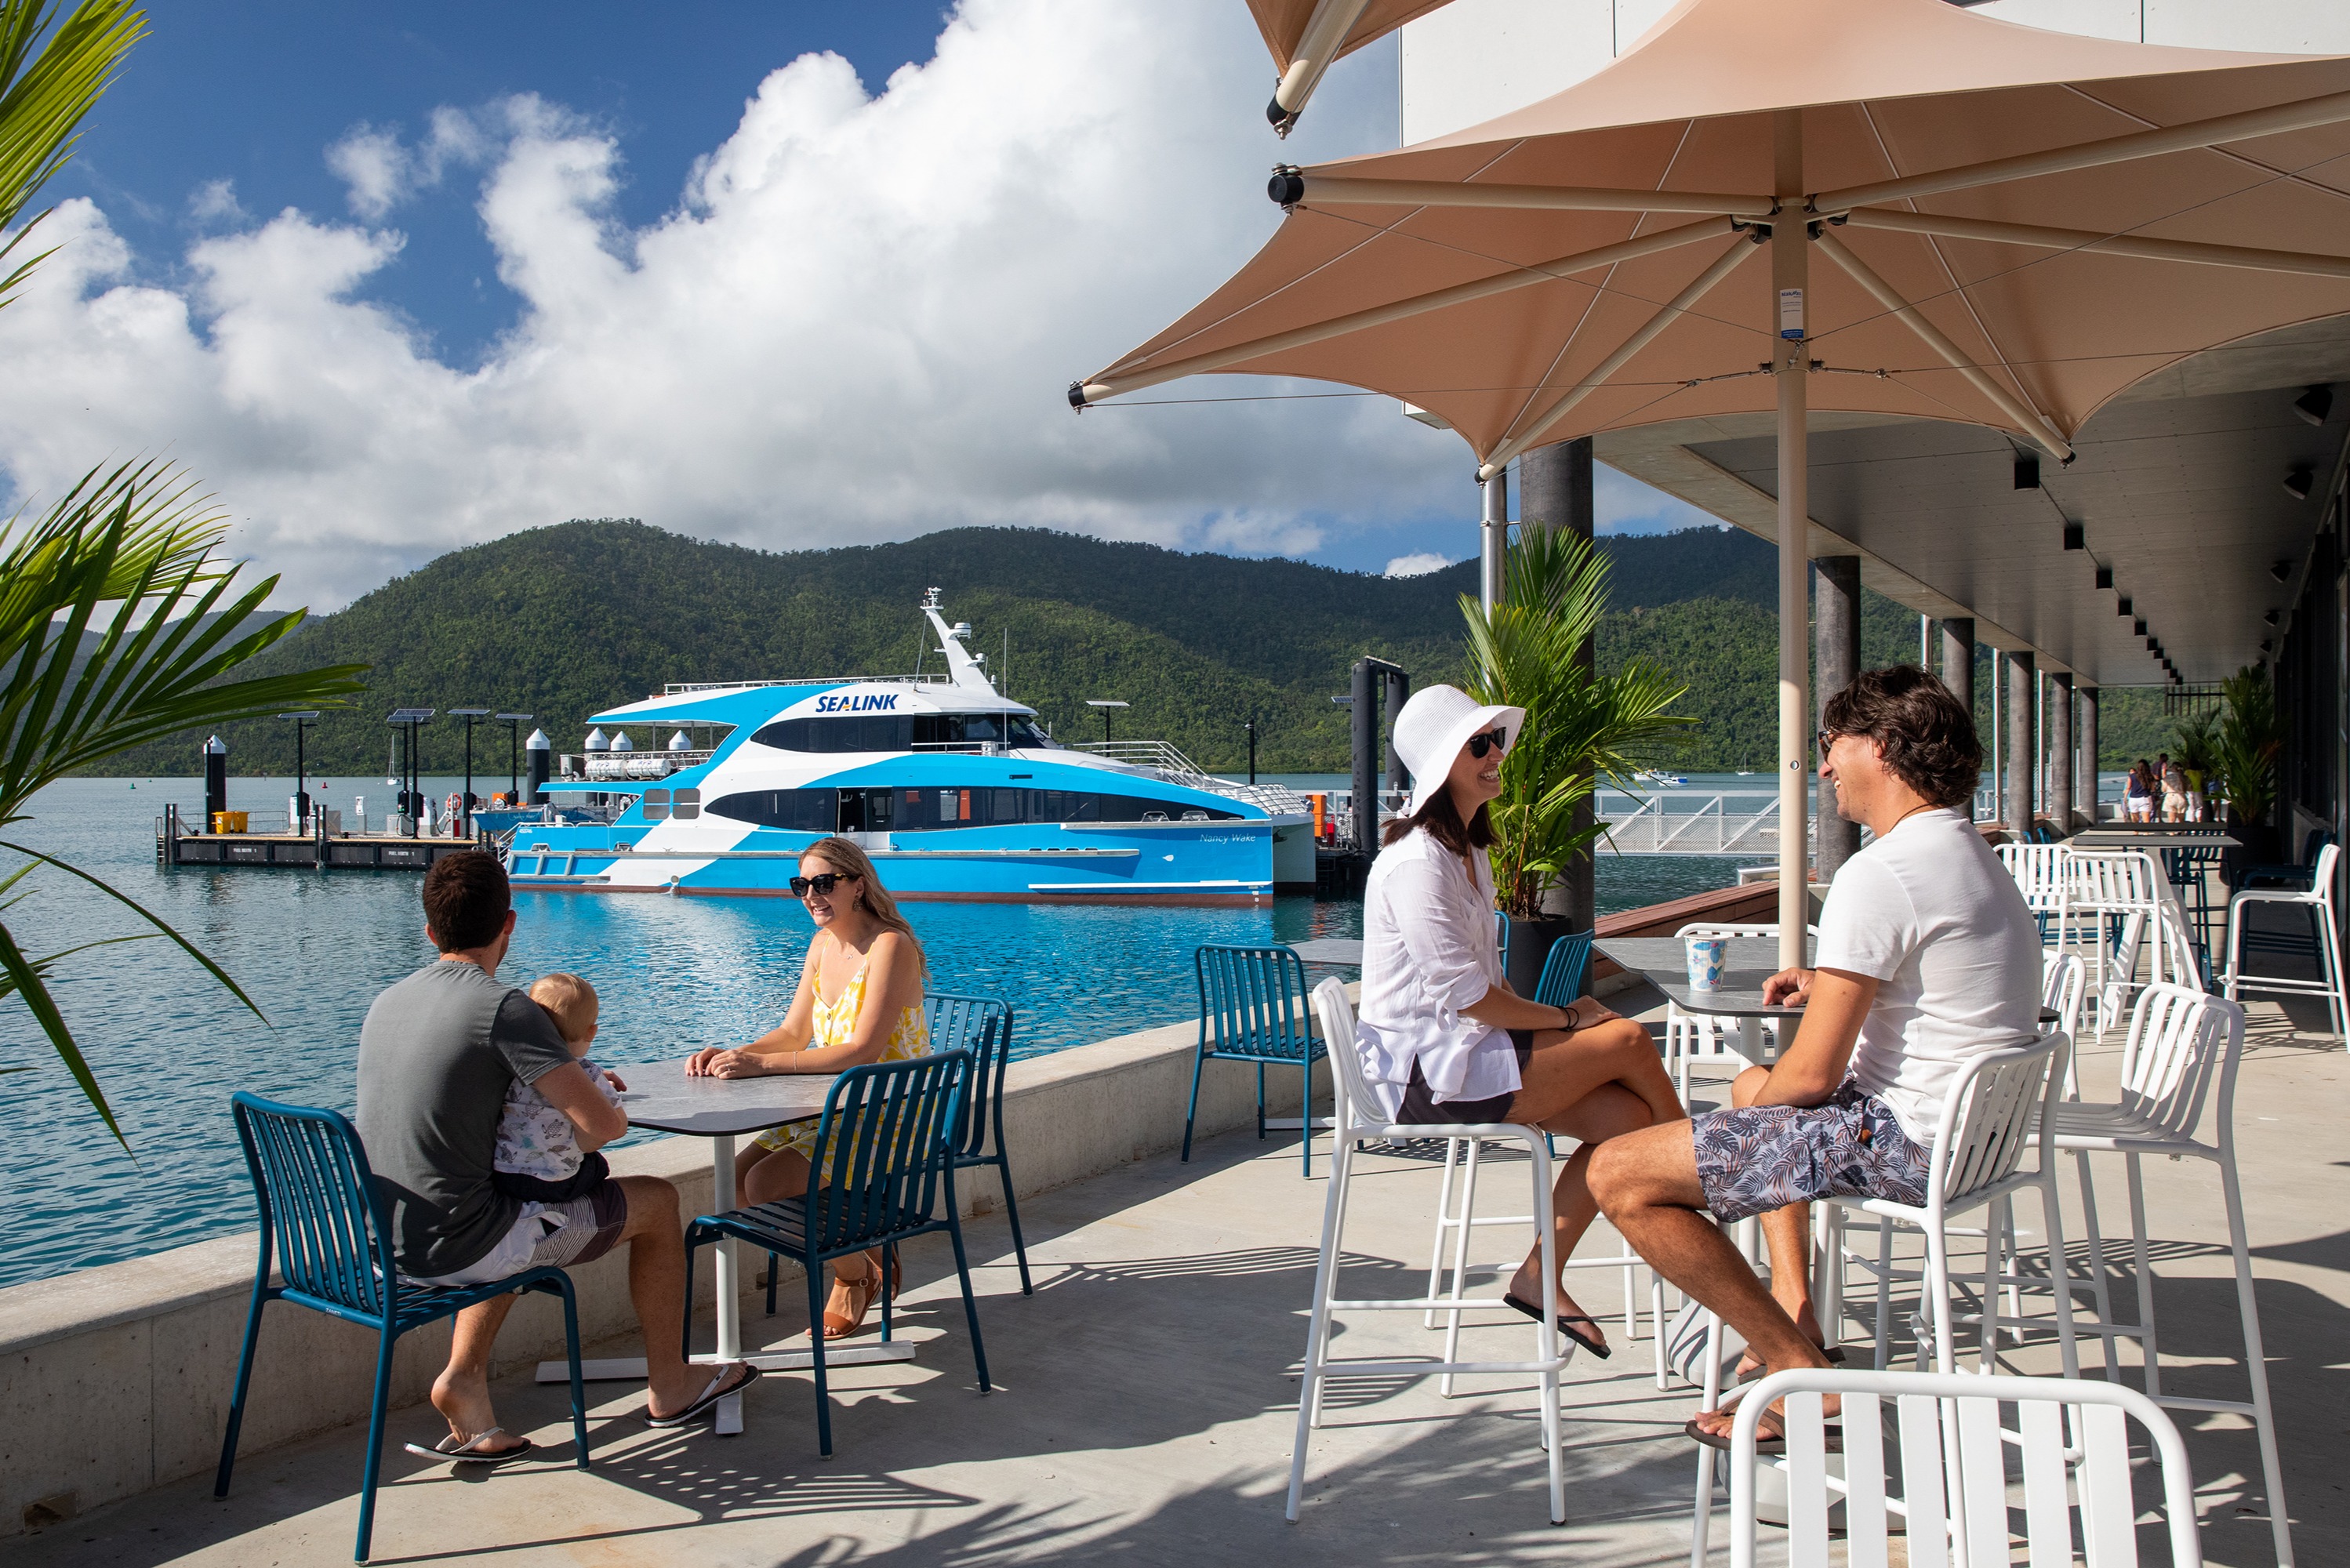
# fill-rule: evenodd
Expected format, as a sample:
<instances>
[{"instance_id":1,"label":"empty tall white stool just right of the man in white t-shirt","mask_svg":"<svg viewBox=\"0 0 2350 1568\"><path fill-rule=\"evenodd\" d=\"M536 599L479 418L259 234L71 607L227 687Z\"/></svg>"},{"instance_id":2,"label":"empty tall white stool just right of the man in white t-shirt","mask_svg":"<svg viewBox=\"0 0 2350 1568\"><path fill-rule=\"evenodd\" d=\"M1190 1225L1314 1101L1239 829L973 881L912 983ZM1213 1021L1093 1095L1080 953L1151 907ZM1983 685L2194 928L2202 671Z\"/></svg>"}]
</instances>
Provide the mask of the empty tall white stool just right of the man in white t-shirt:
<instances>
[{"instance_id":1,"label":"empty tall white stool just right of the man in white t-shirt","mask_svg":"<svg viewBox=\"0 0 2350 1568\"><path fill-rule=\"evenodd\" d=\"M2108 1378L2117 1375L2117 1340L2138 1342L2146 1394L2174 1410L2223 1410L2249 1415L2261 1443L2261 1479L2268 1490L2270 1533L2280 1568L2294 1561L2294 1533L2284 1512L2284 1474L2277 1458L2277 1418L2268 1399L2268 1359L2261 1347L2261 1307L2251 1284L2251 1248L2244 1237L2244 1190L2235 1171L2235 1070L2244 1056L2244 1009L2186 985L2148 985L2129 1016L2122 1044L2122 1098L2117 1103L2066 1103L2054 1107L2056 1150L2073 1154L2080 1171L2080 1208L2089 1232L2092 1291L2099 1335L2108 1352ZM2218 1088L2214 1143L2197 1138L2211 1088ZM2138 1291L2138 1321L2115 1324L2106 1286L2106 1241L2096 1222L2092 1154L2120 1154L2129 1168L2129 1239ZM2244 1333L2244 1366L2251 1399L2178 1399L2162 1392L2162 1354L2155 1342L2153 1260L2148 1258L2146 1190L2138 1161L2209 1159L2218 1166L2221 1201L2228 1211L2228 1251L2235 1258L2237 1321ZM2054 1276L2054 1274L2052 1274Z\"/></svg>"}]
</instances>

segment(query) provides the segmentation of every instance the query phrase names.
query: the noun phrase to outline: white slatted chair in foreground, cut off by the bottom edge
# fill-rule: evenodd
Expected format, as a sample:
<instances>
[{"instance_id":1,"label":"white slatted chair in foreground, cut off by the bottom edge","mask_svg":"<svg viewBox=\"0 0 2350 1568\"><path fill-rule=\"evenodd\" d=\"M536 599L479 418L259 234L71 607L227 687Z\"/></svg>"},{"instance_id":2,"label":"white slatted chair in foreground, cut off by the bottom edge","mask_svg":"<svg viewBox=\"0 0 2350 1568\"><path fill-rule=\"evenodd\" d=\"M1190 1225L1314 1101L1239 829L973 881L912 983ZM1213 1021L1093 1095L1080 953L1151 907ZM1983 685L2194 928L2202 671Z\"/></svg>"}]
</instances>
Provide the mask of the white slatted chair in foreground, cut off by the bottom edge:
<instances>
[{"instance_id":1,"label":"white slatted chair in foreground, cut off by the bottom edge","mask_svg":"<svg viewBox=\"0 0 2350 1568\"><path fill-rule=\"evenodd\" d=\"M1828 1474L1824 1394L1842 1401L1845 1474ZM1786 1458L1755 1455L1755 1425L1786 1401ZM1901 1462L1887 1490L1885 1403ZM2000 1406L2016 1425L2000 1425ZM2075 1526L2087 1568L2138 1568L2129 1422L2146 1429L2162 1469L2171 1568L2202 1568L2195 1474L2178 1427L2150 1399L2075 1378L1795 1371L1765 1378L1730 1429L1730 1568L1755 1568L1755 1472L1786 1472L1786 1561L1828 1561L1828 1507L1845 1505L1849 1568L1882 1568L1894 1516L1913 1568L1993 1568L2012 1556L2007 1450L2021 1450L2023 1535L2033 1563L2073 1563ZM2070 1441L2068 1441L2070 1439ZM1711 1450L1708 1450L1711 1453Z\"/></svg>"}]
</instances>

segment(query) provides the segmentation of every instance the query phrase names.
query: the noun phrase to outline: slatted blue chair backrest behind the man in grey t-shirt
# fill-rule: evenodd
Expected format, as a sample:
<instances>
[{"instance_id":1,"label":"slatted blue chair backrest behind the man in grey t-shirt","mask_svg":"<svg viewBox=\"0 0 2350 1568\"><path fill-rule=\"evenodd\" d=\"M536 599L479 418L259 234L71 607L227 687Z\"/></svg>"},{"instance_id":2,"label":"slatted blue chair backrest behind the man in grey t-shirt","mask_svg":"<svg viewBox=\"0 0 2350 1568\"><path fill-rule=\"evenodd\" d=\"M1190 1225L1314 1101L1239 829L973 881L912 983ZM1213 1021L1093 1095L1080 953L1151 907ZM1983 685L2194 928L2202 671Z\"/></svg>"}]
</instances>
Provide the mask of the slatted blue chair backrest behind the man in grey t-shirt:
<instances>
[{"instance_id":1,"label":"slatted blue chair backrest behind the man in grey t-shirt","mask_svg":"<svg viewBox=\"0 0 2350 1568\"><path fill-rule=\"evenodd\" d=\"M261 1241L275 1251L287 1288L383 1316L390 1215L360 1131L331 1110L280 1105L242 1088L230 1107L254 1173Z\"/></svg>"}]
</instances>

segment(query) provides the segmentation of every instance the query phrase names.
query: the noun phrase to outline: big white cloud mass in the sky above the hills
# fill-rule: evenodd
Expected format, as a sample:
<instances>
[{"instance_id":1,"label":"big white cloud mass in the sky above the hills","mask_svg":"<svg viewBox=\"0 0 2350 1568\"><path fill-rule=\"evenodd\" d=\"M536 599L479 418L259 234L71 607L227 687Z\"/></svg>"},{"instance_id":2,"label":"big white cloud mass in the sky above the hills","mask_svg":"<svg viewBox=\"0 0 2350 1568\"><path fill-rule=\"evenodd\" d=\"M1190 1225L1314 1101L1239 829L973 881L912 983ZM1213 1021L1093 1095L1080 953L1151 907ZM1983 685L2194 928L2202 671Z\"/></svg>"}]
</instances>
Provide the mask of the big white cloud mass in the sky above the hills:
<instances>
[{"instance_id":1,"label":"big white cloud mass in the sky above the hills","mask_svg":"<svg viewBox=\"0 0 2350 1568\"><path fill-rule=\"evenodd\" d=\"M66 202L45 237L73 242L0 313L0 468L21 498L167 451L317 607L566 517L766 548L1046 524L1300 552L1459 512L1459 440L1377 397L1062 400L1262 244L1269 162L1391 146L1391 54L1332 73L1288 143L1264 73L1222 0L964 0L879 99L832 54L773 71L646 228L613 216L613 139L538 99L442 110L414 143L357 127L329 158L362 216L482 169L524 303L468 369L355 296L392 230L287 209L155 259L183 280L157 287Z\"/></svg>"}]
</instances>

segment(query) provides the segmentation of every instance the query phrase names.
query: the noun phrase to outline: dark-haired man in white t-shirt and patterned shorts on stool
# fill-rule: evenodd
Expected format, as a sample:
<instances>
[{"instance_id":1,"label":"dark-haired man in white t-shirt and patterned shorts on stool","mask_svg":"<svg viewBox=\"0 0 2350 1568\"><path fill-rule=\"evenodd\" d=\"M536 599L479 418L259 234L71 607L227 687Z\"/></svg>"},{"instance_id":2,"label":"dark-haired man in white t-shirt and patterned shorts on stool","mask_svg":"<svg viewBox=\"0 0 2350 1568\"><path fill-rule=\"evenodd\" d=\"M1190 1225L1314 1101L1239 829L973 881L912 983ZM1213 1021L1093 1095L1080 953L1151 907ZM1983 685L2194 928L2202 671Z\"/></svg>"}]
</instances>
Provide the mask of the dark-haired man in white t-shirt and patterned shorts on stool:
<instances>
[{"instance_id":1,"label":"dark-haired man in white t-shirt and patterned shorts on stool","mask_svg":"<svg viewBox=\"0 0 2350 1568\"><path fill-rule=\"evenodd\" d=\"M1871 670L1821 712L1819 757L1838 816L1873 842L1828 889L1817 969L1765 987L1802 1004L1795 1041L1739 1074L1732 1110L1626 1133L1591 1161L1614 1227L1767 1373L1828 1363L1810 1199L1922 1204L1960 1063L2040 1030L2040 931L1967 813L1983 766L1974 717L1915 665ZM1762 1215L1770 1291L1716 1225L1748 1215ZM1690 1434L1727 1446L1730 1415L1706 1410Z\"/></svg>"}]
</instances>

